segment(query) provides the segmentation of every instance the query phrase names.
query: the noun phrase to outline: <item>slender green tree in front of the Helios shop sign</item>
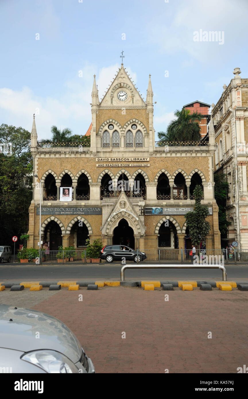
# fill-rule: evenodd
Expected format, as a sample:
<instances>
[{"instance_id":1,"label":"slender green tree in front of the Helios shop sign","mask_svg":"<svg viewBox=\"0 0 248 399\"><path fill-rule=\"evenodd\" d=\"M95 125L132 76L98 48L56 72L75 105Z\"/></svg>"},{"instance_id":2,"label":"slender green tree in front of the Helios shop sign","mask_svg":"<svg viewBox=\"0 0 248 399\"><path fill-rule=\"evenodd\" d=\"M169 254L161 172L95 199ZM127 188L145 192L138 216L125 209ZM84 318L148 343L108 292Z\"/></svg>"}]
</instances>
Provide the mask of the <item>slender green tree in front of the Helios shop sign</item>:
<instances>
[{"instance_id":1,"label":"slender green tree in front of the Helios shop sign","mask_svg":"<svg viewBox=\"0 0 248 399\"><path fill-rule=\"evenodd\" d=\"M186 213L185 219L191 242L198 248L201 241L205 241L206 236L209 235L210 223L206 220L206 217L209 216L209 208L207 205L201 205L203 191L200 185L195 186L193 195L195 196L195 206L193 212Z\"/></svg>"}]
</instances>

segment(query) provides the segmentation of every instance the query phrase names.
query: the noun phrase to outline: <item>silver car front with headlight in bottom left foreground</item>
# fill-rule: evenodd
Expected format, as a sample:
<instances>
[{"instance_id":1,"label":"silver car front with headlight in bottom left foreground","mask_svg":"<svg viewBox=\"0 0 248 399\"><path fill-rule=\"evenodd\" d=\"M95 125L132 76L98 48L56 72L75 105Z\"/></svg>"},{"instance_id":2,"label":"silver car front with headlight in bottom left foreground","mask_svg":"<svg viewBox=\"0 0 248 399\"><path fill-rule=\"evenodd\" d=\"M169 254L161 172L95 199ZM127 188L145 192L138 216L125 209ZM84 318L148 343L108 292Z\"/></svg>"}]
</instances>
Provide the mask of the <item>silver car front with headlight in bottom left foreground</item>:
<instances>
[{"instance_id":1,"label":"silver car front with headlight in bottom left foreground","mask_svg":"<svg viewBox=\"0 0 248 399\"><path fill-rule=\"evenodd\" d=\"M77 337L49 314L0 304L0 372L94 373Z\"/></svg>"}]
</instances>

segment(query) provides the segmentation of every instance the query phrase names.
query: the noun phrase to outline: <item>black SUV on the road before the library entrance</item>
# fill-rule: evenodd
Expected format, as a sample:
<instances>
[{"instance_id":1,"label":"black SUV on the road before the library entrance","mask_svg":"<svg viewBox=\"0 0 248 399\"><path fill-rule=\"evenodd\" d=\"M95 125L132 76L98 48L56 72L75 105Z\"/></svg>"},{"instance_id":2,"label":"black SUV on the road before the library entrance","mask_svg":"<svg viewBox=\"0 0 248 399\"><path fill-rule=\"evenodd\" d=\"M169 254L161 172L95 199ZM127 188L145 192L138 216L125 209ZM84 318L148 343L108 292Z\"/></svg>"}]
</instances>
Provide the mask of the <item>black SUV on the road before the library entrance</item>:
<instances>
[{"instance_id":1,"label":"black SUV on the road before the library entrance","mask_svg":"<svg viewBox=\"0 0 248 399\"><path fill-rule=\"evenodd\" d=\"M137 251L126 245L105 245L101 250L100 258L105 259L108 263L121 261L123 257L126 258L126 261L137 262ZM144 261L144 259L146 259L146 254L144 252L139 252L138 258L139 262Z\"/></svg>"}]
</instances>

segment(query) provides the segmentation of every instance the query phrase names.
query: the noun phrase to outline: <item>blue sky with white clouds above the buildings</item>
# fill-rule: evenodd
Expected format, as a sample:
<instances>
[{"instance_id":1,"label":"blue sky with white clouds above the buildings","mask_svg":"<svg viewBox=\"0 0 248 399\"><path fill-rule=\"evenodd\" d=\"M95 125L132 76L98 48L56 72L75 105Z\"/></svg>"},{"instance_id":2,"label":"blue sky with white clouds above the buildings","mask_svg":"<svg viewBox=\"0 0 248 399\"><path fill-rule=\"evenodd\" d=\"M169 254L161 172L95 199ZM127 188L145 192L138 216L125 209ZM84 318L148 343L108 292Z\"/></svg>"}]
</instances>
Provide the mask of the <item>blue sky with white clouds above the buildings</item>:
<instances>
[{"instance_id":1,"label":"blue sky with white clouds above the buildings","mask_svg":"<svg viewBox=\"0 0 248 399\"><path fill-rule=\"evenodd\" d=\"M152 75L156 132L184 104L217 103L235 67L248 77L246 0L0 0L0 15L0 124L31 131L35 113L39 139L53 124L85 134L93 75L101 98L122 49L144 98ZM200 30L224 43L194 41Z\"/></svg>"}]
</instances>

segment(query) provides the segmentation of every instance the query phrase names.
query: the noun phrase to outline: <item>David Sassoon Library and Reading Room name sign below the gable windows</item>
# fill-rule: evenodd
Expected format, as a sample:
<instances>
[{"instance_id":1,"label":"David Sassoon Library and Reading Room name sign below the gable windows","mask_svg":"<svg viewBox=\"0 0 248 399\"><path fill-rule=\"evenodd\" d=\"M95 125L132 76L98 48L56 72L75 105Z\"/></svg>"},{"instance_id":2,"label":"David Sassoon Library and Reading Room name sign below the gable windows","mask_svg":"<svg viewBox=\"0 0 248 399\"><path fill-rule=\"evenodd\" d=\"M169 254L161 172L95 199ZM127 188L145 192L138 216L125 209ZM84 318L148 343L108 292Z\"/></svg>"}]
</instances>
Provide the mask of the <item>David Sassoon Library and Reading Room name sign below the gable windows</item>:
<instances>
[{"instance_id":1,"label":"David Sassoon Library and Reading Room name sign below the gable windows","mask_svg":"<svg viewBox=\"0 0 248 399\"><path fill-rule=\"evenodd\" d=\"M105 167L105 166L112 166L112 167L122 167L122 166L150 166L147 163L150 160L149 157L120 157L120 158L96 158L96 166ZM128 162L128 163L127 163Z\"/></svg>"}]
</instances>

